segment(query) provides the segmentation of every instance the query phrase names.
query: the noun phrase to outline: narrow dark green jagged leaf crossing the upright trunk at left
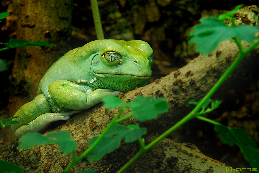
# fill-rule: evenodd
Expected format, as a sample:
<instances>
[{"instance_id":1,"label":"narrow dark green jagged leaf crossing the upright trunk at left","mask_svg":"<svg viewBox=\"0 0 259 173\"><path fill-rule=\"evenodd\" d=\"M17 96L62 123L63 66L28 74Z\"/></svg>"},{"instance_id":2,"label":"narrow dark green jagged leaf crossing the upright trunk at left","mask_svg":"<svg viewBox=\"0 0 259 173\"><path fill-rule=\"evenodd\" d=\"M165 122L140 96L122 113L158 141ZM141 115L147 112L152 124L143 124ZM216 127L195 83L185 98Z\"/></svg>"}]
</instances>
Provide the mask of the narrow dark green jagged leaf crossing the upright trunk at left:
<instances>
[{"instance_id":1,"label":"narrow dark green jagged leaf crossing the upright trunk at left","mask_svg":"<svg viewBox=\"0 0 259 173\"><path fill-rule=\"evenodd\" d=\"M7 47L7 49L28 47L28 46L55 46L55 44L53 43L43 42L41 40L31 42L28 40L17 40L15 38L10 38L8 43L0 43L0 44L4 44Z\"/></svg>"}]
</instances>

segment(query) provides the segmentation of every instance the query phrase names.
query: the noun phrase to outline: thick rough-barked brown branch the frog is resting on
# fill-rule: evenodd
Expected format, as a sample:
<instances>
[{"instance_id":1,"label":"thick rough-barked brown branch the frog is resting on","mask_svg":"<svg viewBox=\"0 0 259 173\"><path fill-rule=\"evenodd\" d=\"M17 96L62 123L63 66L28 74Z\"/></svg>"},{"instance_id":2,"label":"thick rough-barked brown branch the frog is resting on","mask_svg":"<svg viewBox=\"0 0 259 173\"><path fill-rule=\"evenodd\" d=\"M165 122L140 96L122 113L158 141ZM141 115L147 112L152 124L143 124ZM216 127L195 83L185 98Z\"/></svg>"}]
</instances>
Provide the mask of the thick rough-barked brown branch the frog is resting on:
<instances>
[{"instance_id":1,"label":"thick rough-barked brown branch the frog is resting on","mask_svg":"<svg viewBox=\"0 0 259 173\"><path fill-rule=\"evenodd\" d=\"M247 7L240 12L239 16L245 16L251 21L251 24L258 25L258 11L255 6ZM252 17L249 18L249 16ZM238 18L242 20L242 17ZM248 46L246 43L244 45ZM120 95L123 101L130 101L137 95L146 97L155 95L155 97L163 97L170 106L168 113L160 115L158 119L153 121L140 123L132 118L123 121L122 124L136 123L140 127L146 127L148 129L148 134L145 136L146 144L151 142L157 137L155 131L162 127L171 127L193 108L193 106L188 105L188 102L191 99L199 100L202 98L235 60L238 53L238 48L234 43L223 42L218 50L207 56L197 57L178 71L158 79L152 84ZM258 55L259 46L247 55L213 99L218 99L225 92L247 84L250 76L258 70ZM105 110L101 104L98 104L75 115L66 124L49 130L47 133L59 130L69 131L79 145L76 151L78 156L89 147L87 143L92 136L99 135L117 112L117 109ZM72 160L72 155L60 153L59 147L56 145L35 146L26 150L17 150L17 147L17 140L2 143L0 150L3 152L0 153L0 159L19 165L24 172L61 172ZM116 172L138 151L137 143L123 143L119 149L106 155L100 161L89 163L87 159L83 159L71 171L80 172L94 169L97 172ZM127 170L127 172L170 173L218 173L225 171L226 165L224 163L204 156L194 145L178 144L169 139L161 141Z\"/></svg>"}]
</instances>

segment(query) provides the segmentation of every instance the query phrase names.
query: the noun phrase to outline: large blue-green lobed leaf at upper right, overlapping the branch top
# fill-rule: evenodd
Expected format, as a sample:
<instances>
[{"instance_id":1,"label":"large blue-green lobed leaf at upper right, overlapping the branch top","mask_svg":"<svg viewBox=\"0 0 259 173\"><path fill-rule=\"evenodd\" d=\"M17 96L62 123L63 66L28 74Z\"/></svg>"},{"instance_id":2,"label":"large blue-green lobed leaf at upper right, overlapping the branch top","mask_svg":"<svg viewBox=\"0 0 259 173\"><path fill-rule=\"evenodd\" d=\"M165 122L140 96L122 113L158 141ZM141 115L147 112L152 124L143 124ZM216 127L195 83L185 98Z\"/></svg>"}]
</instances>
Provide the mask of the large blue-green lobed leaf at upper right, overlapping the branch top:
<instances>
[{"instance_id":1,"label":"large blue-green lobed leaf at upper right, overlapping the branch top","mask_svg":"<svg viewBox=\"0 0 259 173\"><path fill-rule=\"evenodd\" d=\"M196 44L196 51L201 54L208 54L215 50L219 43L237 37L238 40L254 42L255 33L258 28L252 26L232 26L222 23L218 18L211 16L200 19L201 24L195 25L190 36L193 36L188 43Z\"/></svg>"}]
</instances>

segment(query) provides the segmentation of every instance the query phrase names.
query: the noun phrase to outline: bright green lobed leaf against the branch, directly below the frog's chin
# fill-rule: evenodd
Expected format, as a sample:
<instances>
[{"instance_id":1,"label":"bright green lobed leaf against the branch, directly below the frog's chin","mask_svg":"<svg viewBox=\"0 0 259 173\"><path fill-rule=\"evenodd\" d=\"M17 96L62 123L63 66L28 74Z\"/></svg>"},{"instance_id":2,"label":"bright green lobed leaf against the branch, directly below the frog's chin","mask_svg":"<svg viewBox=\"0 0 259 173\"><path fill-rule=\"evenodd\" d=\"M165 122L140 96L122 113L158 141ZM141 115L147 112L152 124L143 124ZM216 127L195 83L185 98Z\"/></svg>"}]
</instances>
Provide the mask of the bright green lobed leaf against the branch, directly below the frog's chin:
<instances>
[{"instance_id":1,"label":"bright green lobed leaf against the branch, directly below the frog's chin","mask_svg":"<svg viewBox=\"0 0 259 173\"><path fill-rule=\"evenodd\" d=\"M169 106L162 98L152 100L152 97L138 96L132 102L127 103L138 121L156 119L158 114L168 112Z\"/></svg>"}]
</instances>

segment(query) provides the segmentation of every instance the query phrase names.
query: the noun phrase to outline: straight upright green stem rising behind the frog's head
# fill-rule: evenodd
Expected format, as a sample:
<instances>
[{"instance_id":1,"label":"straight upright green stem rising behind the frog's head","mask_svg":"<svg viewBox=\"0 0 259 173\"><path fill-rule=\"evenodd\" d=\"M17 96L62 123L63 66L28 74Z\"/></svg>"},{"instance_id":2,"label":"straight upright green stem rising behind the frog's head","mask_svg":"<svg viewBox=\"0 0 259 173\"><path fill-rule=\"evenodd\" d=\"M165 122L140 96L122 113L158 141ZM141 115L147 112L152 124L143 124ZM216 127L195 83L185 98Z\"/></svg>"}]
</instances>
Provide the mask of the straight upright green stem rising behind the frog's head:
<instances>
[{"instance_id":1,"label":"straight upright green stem rising behind the frog's head","mask_svg":"<svg viewBox=\"0 0 259 173\"><path fill-rule=\"evenodd\" d=\"M99 13L97 0L91 0L92 13L94 18L94 26L96 30L97 40L104 39L101 17Z\"/></svg>"}]
</instances>

